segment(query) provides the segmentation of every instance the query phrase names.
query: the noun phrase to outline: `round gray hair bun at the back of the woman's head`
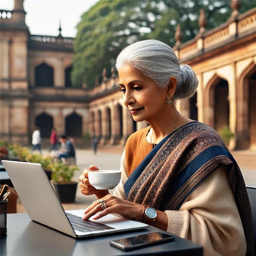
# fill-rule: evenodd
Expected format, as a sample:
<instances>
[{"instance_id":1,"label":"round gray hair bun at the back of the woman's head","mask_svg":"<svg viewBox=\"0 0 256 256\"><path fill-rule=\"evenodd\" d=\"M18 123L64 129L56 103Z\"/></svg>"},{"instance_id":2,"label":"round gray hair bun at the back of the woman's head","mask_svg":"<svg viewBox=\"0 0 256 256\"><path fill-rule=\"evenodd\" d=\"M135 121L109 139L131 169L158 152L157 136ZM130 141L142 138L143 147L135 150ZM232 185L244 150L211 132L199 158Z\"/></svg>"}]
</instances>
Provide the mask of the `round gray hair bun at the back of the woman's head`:
<instances>
[{"instance_id":1,"label":"round gray hair bun at the back of the woman's head","mask_svg":"<svg viewBox=\"0 0 256 256\"><path fill-rule=\"evenodd\" d=\"M177 84L173 98L189 99L193 97L198 87L198 79L194 70L187 64L180 65L181 83Z\"/></svg>"}]
</instances>

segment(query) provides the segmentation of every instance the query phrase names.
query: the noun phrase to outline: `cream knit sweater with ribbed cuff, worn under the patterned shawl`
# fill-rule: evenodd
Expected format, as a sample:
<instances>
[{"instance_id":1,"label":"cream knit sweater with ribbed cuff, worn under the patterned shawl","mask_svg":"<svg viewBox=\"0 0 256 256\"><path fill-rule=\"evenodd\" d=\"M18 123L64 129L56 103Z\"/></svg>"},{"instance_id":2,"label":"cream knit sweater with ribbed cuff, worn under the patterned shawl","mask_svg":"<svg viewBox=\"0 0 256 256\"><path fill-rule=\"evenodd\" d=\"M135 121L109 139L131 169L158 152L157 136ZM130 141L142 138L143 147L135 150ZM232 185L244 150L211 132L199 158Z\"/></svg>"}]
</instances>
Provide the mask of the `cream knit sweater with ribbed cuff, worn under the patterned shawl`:
<instances>
[{"instance_id":1,"label":"cream knit sweater with ribbed cuff, worn under the patterned shawl","mask_svg":"<svg viewBox=\"0 0 256 256\"><path fill-rule=\"evenodd\" d=\"M128 179L125 151L121 158L121 181L114 196L127 200L124 183ZM243 256L244 229L231 191L225 167L207 177L178 211L165 211L167 231L204 247L204 256Z\"/></svg>"}]
</instances>

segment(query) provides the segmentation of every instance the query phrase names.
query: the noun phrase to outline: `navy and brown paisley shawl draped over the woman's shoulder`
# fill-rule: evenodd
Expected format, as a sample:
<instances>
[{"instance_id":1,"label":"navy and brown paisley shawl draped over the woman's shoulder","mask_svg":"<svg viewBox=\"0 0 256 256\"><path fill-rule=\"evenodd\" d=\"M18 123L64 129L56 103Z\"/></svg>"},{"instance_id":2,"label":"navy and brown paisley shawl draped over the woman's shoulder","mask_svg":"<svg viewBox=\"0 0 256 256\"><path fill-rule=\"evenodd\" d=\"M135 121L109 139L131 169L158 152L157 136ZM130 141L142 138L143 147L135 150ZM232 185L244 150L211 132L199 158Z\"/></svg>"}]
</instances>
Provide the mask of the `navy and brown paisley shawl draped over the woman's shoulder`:
<instances>
[{"instance_id":1,"label":"navy and brown paisley shawl draped over the woman's shoulder","mask_svg":"<svg viewBox=\"0 0 256 256\"><path fill-rule=\"evenodd\" d=\"M191 122L166 136L124 184L126 198L161 211L178 210L191 192L218 167L226 165L242 220L246 255L253 255L252 211L242 173L211 127Z\"/></svg>"}]
</instances>

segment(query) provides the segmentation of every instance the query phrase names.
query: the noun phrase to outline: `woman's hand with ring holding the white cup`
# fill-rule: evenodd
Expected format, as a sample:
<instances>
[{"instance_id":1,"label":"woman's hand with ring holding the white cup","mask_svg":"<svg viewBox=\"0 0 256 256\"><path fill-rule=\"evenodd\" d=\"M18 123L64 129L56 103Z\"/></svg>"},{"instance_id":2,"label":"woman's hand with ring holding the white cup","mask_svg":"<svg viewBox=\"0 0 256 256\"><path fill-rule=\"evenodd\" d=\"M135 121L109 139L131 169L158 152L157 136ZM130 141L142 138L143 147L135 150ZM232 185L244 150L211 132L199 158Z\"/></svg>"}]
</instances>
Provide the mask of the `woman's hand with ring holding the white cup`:
<instances>
[{"instance_id":1,"label":"woman's hand with ring holding the white cup","mask_svg":"<svg viewBox=\"0 0 256 256\"><path fill-rule=\"evenodd\" d=\"M81 192L84 195L93 195L97 196L98 199L109 194L108 190L105 189L96 189L92 187L88 179L88 171L97 171L99 168L95 165L91 165L89 169L84 169L83 174L78 178L80 181L79 187L81 188Z\"/></svg>"}]
</instances>

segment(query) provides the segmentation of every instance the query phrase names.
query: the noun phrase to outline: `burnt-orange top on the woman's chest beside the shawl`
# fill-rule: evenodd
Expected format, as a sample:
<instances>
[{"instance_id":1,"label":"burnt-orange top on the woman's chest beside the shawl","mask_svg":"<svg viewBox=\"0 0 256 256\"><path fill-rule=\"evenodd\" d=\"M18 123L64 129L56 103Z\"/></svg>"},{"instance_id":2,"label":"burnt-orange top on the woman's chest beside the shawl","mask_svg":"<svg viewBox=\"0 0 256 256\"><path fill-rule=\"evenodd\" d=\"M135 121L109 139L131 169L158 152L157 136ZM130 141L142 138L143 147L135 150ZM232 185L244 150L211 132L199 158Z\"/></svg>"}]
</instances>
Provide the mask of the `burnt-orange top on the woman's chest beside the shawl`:
<instances>
[{"instance_id":1,"label":"burnt-orange top on the woman's chest beside the shawl","mask_svg":"<svg viewBox=\"0 0 256 256\"><path fill-rule=\"evenodd\" d=\"M125 164L128 177L156 145L146 140L148 130L149 127L146 127L134 132L126 141Z\"/></svg>"}]
</instances>

